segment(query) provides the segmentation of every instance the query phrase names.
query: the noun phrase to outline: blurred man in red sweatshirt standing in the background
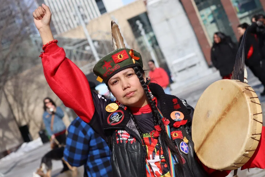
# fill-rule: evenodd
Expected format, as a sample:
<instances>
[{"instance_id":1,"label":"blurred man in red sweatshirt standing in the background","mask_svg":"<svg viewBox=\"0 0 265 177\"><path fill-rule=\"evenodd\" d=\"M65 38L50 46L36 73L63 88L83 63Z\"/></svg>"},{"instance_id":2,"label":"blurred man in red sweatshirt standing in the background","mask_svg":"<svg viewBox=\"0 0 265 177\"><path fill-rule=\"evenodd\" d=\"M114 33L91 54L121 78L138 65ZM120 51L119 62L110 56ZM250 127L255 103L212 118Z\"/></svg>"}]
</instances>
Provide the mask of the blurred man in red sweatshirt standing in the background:
<instances>
[{"instance_id":1,"label":"blurred man in red sweatshirt standing in the background","mask_svg":"<svg viewBox=\"0 0 265 177\"><path fill-rule=\"evenodd\" d=\"M156 67L153 60L148 61L148 66L151 70L149 71L151 82L160 85L166 94L171 94L167 72L163 68Z\"/></svg>"}]
</instances>

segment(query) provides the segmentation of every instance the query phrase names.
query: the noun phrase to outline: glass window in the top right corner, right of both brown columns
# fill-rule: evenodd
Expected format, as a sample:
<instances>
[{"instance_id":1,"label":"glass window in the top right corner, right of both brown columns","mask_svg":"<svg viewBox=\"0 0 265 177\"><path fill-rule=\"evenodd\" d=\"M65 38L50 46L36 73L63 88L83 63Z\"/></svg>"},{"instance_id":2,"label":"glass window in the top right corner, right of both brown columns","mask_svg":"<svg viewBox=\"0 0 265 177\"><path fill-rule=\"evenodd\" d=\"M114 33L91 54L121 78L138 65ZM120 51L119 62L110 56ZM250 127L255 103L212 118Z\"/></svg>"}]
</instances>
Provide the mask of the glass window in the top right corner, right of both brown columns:
<instances>
[{"instance_id":1,"label":"glass window in the top right corner, right of both brown columns","mask_svg":"<svg viewBox=\"0 0 265 177\"><path fill-rule=\"evenodd\" d=\"M264 0L261 0L264 1ZM231 0L240 23L251 23L255 14L264 14L260 0Z\"/></svg>"}]
</instances>

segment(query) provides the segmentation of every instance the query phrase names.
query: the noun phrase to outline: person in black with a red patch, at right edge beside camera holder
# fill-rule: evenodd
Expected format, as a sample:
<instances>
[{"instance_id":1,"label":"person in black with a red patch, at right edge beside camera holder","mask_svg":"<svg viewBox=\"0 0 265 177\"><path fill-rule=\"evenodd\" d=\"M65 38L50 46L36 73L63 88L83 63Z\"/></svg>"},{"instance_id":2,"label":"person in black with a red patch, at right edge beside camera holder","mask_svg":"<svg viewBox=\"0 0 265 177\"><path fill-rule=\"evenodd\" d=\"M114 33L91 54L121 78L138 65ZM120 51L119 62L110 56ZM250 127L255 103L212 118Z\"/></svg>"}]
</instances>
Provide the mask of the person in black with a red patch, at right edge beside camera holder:
<instances>
[{"instance_id":1,"label":"person in black with a red patch, at right edge beside camera holder","mask_svg":"<svg viewBox=\"0 0 265 177\"><path fill-rule=\"evenodd\" d=\"M237 26L238 33L241 35L239 39L239 46L241 44L243 34L248 27L249 25L247 23L243 23ZM261 61L262 54L260 51L258 37L256 34L250 33L248 31L245 46L245 64L249 67L253 74L258 77L258 79L264 85L265 88L265 72L261 65ZM265 95L265 89L260 95Z\"/></svg>"}]
</instances>

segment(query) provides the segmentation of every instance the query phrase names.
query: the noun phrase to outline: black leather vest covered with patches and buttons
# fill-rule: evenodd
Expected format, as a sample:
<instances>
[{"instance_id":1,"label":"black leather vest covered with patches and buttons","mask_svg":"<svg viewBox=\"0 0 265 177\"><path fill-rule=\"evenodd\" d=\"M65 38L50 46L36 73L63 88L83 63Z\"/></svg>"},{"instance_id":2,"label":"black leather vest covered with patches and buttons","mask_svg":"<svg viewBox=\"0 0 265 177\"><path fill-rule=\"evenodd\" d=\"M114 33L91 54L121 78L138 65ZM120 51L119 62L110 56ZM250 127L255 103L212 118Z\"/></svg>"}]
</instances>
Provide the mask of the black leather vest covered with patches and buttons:
<instances>
[{"instance_id":1,"label":"black leather vest covered with patches and buttons","mask_svg":"<svg viewBox=\"0 0 265 177\"><path fill-rule=\"evenodd\" d=\"M164 90L162 87L160 87L157 84L151 83L149 85L151 92L153 93L154 96L157 97L157 100L160 102L160 111L162 112L163 116L168 118L170 120L170 131L182 131L183 137L186 137L189 142L188 142L188 147L189 147L189 152L188 154L184 154L180 151L179 149L179 144L182 140L180 139L175 139L176 143L178 144L178 149L182 157L185 159L185 163L183 165L183 170L184 170L184 176L185 177L200 177L200 176L207 176L203 168L197 163L197 161L194 158L194 143L191 139L191 135L189 133L191 129L191 119L192 119L192 114L193 114L193 108L189 105L184 105L185 101L184 100L179 100L177 97L172 96L172 95L167 95L164 93ZM178 103L181 106L181 112L184 114L184 119L187 119L188 122L179 128L174 128L173 124L175 123L174 120L170 118L170 113L175 111L174 106L173 106L173 98L178 99ZM98 98L93 98L94 102L95 99ZM95 103L96 110L97 109L103 109L107 104L110 102L105 101L102 102L103 99L101 99L101 104L103 104L100 107L97 107L97 102ZM183 101L183 103L182 103ZM94 117L92 118L90 124L91 127L95 129L96 132L98 132L108 143L110 150L112 152L111 155L111 162L112 162L112 170L113 170L113 176L147 176L146 175L146 169L145 169L145 150L143 149L142 146L142 141L140 138L140 134L137 131L135 124L133 120L130 119L130 115L128 110L124 110L121 107L117 111L121 111L120 116L124 114L124 117L119 119L121 122L119 122L116 125L110 125L108 120L111 121L110 116L112 113L108 113L105 111L105 115L98 115L94 114ZM115 112L117 112L115 111ZM96 111L100 112L100 111ZM102 117L104 116L104 119ZM100 121L98 121L100 119ZM118 119L118 117L117 117ZM102 121L102 124L99 123ZM104 133L101 131L103 125ZM129 143L126 141L117 141L117 132L119 131L126 131L129 133L130 136L130 141L133 143ZM167 166L169 167L169 156L168 156L168 150L167 147L164 143L163 140L160 139L161 141L161 146L163 149L164 157L167 162ZM178 171L176 170L175 167L175 174L176 176L178 175Z\"/></svg>"}]
</instances>

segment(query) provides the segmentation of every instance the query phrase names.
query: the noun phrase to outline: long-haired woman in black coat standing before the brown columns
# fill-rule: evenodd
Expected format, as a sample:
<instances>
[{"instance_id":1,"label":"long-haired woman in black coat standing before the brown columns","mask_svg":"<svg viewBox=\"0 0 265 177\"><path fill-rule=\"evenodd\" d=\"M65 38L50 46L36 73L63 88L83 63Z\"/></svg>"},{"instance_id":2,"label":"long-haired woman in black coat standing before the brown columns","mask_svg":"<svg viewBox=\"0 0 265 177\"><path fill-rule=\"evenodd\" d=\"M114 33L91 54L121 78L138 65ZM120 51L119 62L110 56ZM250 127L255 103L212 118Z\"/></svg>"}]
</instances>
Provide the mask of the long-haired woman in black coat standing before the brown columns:
<instances>
[{"instance_id":1,"label":"long-haired woman in black coat standing before the brown columns","mask_svg":"<svg viewBox=\"0 0 265 177\"><path fill-rule=\"evenodd\" d=\"M237 54L237 46L229 36L222 32L214 33L211 60L223 79L231 79Z\"/></svg>"}]
</instances>

